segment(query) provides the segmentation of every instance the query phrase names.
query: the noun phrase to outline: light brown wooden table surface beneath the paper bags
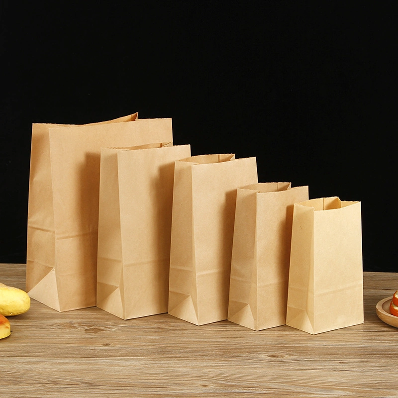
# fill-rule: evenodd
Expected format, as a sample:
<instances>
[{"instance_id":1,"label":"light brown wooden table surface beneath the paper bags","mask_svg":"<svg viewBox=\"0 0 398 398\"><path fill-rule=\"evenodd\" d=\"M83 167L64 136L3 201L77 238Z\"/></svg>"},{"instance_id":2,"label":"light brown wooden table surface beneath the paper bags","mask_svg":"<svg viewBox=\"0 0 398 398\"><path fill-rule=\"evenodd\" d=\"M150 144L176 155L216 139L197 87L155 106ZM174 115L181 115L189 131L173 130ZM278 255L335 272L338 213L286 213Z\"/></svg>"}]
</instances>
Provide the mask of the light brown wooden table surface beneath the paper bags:
<instances>
[{"instance_id":1,"label":"light brown wooden table surface beneath the paper bags","mask_svg":"<svg viewBox=\"0 0 398 398\"><path fill-rule=\"evenodd\" d=\"M0 282L24 289L25 265ZM365 272L365 322L317 335L32 300L0 340L0 397L398 397L398 329L376 315L396 290L398 273Z\"/></svg>"}]
</instances>

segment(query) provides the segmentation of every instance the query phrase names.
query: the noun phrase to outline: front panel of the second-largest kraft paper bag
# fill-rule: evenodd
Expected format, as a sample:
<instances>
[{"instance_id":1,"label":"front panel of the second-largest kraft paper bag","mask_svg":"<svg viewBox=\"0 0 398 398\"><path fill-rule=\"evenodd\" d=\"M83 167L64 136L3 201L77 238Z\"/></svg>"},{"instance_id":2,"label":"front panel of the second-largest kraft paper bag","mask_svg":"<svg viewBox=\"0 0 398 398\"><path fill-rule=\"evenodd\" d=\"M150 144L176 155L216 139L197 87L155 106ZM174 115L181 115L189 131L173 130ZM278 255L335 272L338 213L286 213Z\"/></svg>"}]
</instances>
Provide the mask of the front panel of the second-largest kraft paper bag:
<instances>
[{"instance_id":1,"label":"front panel of the second-largest kraft paper bag","mask_svg":"<svg viewBox=\"0 0 398 398\"><path fill-rule=\"evenodd\" d=\"M167 312L174 164L189 145L118 152L125 317Z\"/></svg>"}]
</instances>

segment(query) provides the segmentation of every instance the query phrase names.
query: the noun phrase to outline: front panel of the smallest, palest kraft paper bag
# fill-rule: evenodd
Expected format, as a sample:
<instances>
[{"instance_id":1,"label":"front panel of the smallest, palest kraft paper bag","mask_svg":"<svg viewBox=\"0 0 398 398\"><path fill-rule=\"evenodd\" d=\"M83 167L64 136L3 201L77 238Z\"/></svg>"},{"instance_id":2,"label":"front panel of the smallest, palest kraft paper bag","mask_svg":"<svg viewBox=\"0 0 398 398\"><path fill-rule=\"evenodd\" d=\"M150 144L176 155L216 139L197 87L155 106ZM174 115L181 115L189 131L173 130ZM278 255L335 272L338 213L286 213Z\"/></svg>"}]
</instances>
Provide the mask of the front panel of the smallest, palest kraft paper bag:
<instances>
[{"instance_id":1,"label":"front panel of the smallest, palest kraft paper bag","mask_svg":"<svg viewBox=\"0 0 398 398\"><path fill-rule=\"evenodd\" d=\"M361 203L315 211L314 330L363 322Z\"/></svg>"}]
</instances>

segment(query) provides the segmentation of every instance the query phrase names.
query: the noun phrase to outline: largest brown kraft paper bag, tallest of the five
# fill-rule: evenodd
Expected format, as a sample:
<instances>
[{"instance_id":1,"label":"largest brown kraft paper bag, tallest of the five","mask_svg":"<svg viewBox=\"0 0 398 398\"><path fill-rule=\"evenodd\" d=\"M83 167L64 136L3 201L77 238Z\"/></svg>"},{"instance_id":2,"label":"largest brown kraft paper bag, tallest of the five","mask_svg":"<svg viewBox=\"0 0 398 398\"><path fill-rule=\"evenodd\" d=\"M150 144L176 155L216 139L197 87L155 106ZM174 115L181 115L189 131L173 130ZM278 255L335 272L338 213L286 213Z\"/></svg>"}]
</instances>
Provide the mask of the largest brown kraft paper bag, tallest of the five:
<instances>
[{"instance_id":1,"label":"largest brown kraft paper bag, tallest of the five","mask_svg":"<svg viewBox=\"0 0 398 398\"><path fill-rule=\"evenodd\" d=\"M26 267L31 298L58 311L96 305L100 148L167 141L171 119L33 125Z\"/></svg>"}]
</instances>

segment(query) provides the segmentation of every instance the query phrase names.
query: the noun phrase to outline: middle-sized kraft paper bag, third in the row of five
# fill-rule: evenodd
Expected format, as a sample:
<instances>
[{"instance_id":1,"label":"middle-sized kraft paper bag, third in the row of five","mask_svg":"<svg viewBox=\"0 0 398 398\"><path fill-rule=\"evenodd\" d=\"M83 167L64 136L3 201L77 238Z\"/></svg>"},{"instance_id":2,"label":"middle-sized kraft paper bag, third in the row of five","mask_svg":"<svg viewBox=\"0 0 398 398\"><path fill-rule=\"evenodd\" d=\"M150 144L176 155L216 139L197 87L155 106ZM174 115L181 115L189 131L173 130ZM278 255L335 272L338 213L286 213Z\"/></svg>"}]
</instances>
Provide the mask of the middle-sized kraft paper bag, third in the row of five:
<instances>
[{"instance_id":1,"label":"middle-sized kraft paper bag, third in the row of five","mask_svg":"<svg viewBox=\"0 0 398 398\"><path fill-rule=\"evenodd\" d=\"M169 314L196 325L227 319L236 190L254 183L254 157L199 155L176 162Z\"/></svg>"}]
</instances>

